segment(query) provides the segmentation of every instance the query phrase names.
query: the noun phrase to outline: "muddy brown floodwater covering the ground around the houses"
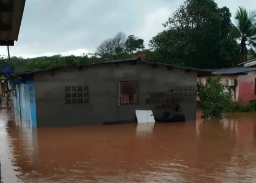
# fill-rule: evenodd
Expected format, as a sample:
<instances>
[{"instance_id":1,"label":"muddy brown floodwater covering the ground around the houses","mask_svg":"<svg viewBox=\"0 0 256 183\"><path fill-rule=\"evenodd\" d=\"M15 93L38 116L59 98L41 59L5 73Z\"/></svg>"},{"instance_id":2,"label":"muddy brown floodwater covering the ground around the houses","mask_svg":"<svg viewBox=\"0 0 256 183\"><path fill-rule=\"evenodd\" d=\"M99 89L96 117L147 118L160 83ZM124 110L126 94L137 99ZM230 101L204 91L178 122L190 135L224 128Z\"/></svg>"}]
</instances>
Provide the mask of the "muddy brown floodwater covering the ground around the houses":
<instances>
[{"instance_id":1,"label":"muddy brown floodwater covering the ground around the houses","mask_svg":"<svg viewBox=\"0 0 256 183\"><path fill-rule=\"evenodd\" d=\"M15 127L0 110L3 183L253 183L256 113L176 124Z\"/></svg>"}]
</instances>

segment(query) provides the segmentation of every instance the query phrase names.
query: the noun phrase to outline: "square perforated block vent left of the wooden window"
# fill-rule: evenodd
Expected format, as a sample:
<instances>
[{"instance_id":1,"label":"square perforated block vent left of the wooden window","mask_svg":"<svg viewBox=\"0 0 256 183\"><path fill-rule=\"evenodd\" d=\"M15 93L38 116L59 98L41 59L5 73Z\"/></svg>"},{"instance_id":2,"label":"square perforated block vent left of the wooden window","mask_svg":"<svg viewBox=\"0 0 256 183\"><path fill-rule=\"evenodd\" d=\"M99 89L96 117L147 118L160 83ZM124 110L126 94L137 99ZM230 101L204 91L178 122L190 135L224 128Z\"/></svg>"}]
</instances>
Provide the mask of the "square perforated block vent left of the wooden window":
<instances>
[{"instance_id":1,"label":"square perforated block vent left of the wooden window","mask_svg":"<svg viewBox=\"0 0 256 183\"><path fill-rule=\"evenodd\" d=\"M65 87L66 104L83 104L89 103L88 86L69 86Z\"/></svg>"}]
</instances>

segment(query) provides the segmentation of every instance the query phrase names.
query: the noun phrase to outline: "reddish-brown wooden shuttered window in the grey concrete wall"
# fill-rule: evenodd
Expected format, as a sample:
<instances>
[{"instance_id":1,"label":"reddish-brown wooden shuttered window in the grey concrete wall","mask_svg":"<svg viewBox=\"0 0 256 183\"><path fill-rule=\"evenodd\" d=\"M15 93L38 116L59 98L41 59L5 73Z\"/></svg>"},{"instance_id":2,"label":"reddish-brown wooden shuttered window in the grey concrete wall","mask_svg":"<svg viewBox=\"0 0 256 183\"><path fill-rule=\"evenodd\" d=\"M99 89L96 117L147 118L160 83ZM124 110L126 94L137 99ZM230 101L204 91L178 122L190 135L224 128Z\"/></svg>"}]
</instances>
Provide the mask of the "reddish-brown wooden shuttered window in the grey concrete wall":
<instances>
[{"instance_id":1,"label":"reddish-brown wooden shuttered window in the grey concrete wall","mask_svg":"<svg viewBox=\"0 0 256 183\"><path fill-rule=\"evenodd\" d=\"M139 104L139 82L120 81L119 82L120 105Z\"/></svg>"}]
</instances>

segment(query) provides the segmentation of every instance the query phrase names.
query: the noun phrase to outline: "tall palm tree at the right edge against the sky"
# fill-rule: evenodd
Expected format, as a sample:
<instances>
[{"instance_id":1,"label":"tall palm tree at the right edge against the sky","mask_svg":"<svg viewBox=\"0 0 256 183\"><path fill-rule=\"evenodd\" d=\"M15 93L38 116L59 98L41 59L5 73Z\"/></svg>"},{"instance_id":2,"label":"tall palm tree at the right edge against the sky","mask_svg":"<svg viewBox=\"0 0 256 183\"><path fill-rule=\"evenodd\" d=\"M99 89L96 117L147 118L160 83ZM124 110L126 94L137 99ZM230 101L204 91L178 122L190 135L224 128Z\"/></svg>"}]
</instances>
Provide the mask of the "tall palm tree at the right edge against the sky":
<instances>
[{"instance_id":1,"label":"tall palm tree at the right edge against the sky","mask_svg":"<svg viewBox=\"0 0 256 183\"><path fill-rule=\"evenodd\" d=\"M256 11L238 7L235 14L233 35L240 40L241 62L247 61L248 47L256 49Z\"/></svg>"}]
</instances>

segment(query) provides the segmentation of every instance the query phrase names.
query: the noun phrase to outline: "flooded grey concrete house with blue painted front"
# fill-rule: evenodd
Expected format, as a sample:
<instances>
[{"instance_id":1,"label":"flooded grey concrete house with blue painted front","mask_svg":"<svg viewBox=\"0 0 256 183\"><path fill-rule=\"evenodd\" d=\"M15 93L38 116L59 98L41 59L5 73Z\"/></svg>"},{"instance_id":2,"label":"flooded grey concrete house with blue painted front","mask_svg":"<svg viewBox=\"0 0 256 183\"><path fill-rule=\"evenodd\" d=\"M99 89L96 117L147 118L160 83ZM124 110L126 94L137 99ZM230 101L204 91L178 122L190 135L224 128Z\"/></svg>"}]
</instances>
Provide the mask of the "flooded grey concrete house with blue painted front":
<instances>
[{"instance_id":1,"label":"flooded grey concrete house with blue painted front","mask_svg":"<svg viewBox=\"0 0 256 183\"><path fill-rule=\"evenodd\" d=\"M16 73L6 81L17 121L53 127L133 122L135 110L162 112L163 104L173 103L187 120L195 119L197 78L206 74L131 58Z\"/></svg>"}]
</instances>

